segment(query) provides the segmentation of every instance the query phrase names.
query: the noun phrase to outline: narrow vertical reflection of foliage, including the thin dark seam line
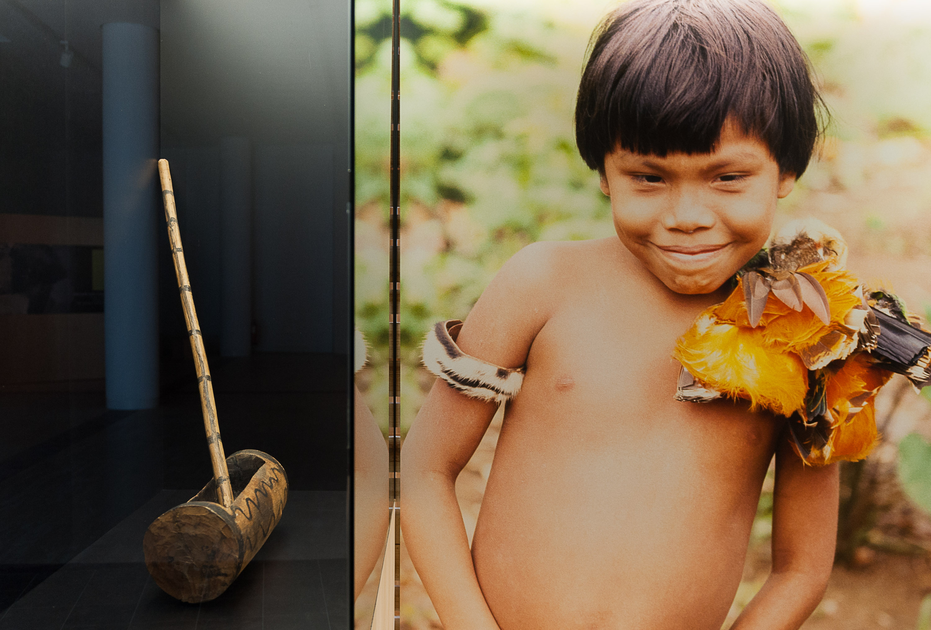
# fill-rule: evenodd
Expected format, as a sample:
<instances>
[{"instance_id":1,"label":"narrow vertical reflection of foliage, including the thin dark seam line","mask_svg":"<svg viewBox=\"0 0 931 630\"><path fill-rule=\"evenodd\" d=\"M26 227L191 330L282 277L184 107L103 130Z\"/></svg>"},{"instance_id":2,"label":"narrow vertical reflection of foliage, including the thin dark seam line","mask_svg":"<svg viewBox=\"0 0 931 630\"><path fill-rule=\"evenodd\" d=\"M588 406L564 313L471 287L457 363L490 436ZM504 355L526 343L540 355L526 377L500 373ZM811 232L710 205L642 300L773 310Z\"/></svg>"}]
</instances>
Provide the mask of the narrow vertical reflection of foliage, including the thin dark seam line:
<instances>
[{"instance_id":1,"label":"narrow vertical reflection of foliage, including the thin dark seam line","mask_svg":"<svg viewBox=\"0 0 931 630\"><path fill-rule=\"evenodd\" d=\"M371 13L367 10L371 7L359 10L363 7L358 6L356 15ZM393 516L397 514L398 476L392 471L397 471L399 449L399 177L395 151L399 68L397 21L390 19L391 8L387 10L388 20L374 28L368 19L371 16L354 25L356 321L365 335L363 339L363 332L358 332L359 364L366 341L370 353L367 367L358 372L356 380L355 617L356 627L366 630L395 627L398 602L399 530ZM376 48L382 51L380 61L371 63Z\"/></svg>"}]
</instances>

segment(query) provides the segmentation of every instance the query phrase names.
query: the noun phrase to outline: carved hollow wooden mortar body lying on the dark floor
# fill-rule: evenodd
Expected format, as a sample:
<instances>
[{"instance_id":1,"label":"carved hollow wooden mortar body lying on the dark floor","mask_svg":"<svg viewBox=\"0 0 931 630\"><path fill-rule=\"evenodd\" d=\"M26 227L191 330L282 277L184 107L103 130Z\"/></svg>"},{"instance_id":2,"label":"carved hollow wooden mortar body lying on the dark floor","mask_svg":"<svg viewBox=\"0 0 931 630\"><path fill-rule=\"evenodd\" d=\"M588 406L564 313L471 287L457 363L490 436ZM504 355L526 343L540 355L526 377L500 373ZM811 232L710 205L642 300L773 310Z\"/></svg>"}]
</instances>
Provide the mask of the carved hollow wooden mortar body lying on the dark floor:
<instances>
[{"instance_id":1,"label":"carved hollow wooden mortar body lying on the dark floor","mask_svg":"<svg viewBox=\"0 0 931 630\"><path fill-rule=\"evenodd\" d=\"M158 586L189 603L223 594L259 551L288 501L288 476L271 455L239 450L228 458L236 497L217 503L214 479L145 532L145 566Z\"/></svg>"}]
</instances>

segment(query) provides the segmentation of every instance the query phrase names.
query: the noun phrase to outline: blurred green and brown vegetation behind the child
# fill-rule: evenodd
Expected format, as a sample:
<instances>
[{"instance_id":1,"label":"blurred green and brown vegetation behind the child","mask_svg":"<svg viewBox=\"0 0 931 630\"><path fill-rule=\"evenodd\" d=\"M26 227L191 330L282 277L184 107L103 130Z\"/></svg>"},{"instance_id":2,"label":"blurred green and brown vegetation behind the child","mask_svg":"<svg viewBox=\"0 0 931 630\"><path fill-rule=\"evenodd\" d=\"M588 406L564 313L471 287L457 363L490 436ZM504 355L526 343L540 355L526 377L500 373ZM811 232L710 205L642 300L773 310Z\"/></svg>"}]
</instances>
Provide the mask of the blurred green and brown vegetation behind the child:
<instances>
[{"instance_id":1,"label":"blurred green and brown vegetation behind the child","mask_svg":"<svg viewBox=\"0 0 931 630\"><path fill-rule=\"evenodd\" d=\"M588 35L616 4L402 0L402 434L433 382L419 368L428 326L465 318L504 261L533 241L614 234L598 177L575 150L573 104ZM776 228L799 216L837 227L857 275L924 312L931 308L931 3L774 4L813 61L833 120L818 158L780 202ZM357 0L356 19L356 305L371 346L358 382L386 429L390 2ZM843 471L842 564L806 628L913 628L931 591L931 522L922 510L931 490L921 489L931 487L924 441L931 403L902 382L887 389L877 415L884 446ZM470 510L478 514L494 436L460 479L467 523ZM910 475L905 485L899 466ZM767 482L729 619L768 571L771 491ZM403 623L439 627L409 564L405 570ZM905 585L883 595L890 580Z\"/></svg>"}]
</instances>

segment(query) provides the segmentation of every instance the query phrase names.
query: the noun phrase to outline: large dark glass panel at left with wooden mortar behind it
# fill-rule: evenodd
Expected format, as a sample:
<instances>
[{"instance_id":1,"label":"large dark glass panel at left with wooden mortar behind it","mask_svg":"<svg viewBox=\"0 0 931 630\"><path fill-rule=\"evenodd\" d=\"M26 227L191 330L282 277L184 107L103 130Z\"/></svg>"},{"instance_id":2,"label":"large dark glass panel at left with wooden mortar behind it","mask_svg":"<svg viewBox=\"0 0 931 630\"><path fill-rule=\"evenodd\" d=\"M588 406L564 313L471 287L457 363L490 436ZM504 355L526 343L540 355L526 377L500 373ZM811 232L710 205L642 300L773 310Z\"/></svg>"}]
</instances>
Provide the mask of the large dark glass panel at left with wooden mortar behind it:
<instances>
[{"instance_id":1,"label":"large dark glass panel at left with wooden mortar behind it","mask_svg":"<svg viewBox=\"0 0 931 630\"><path fill-rule=\"evenodd\" d=\"M349 627L349 15L0 3L0 627Z\"/></svg>"}]
</instances>

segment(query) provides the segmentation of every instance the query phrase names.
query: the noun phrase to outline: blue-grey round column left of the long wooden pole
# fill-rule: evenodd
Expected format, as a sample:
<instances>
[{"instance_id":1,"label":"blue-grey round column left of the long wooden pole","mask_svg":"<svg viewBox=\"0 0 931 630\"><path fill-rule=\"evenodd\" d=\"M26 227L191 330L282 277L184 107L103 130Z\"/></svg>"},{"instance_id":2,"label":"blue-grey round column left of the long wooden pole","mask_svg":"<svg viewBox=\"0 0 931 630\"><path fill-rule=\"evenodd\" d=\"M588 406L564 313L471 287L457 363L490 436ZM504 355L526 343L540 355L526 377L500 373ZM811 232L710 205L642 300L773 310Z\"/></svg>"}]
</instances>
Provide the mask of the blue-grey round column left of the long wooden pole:
<instances>
[{"instance_id":1,"label":"blue-grey round column left of the long wooden pole","mask_svg":"<svg viewBox=\"0 0 931 630\"><path fill-rule=\"evenodd\" d=\"M158 404L158 33L103 27L103 274L109 409Z\"/></svg>"}]
</instances>

